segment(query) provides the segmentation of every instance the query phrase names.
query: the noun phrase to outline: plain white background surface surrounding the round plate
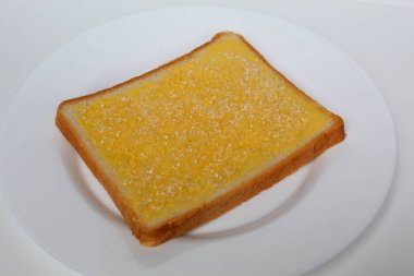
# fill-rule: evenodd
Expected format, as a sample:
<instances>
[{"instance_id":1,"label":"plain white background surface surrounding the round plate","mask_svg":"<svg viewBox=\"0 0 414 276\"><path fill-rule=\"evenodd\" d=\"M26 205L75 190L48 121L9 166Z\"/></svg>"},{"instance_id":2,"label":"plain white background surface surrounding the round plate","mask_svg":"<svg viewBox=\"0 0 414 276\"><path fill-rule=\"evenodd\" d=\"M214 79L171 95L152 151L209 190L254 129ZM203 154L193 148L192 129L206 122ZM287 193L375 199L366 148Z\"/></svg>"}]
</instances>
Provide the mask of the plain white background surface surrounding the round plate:
<instances>
[{"instance_id":1,"label":"plain white background surface surrounding the round plate","mask_svg":"<svg viewBox=\"0 0 414 276\"><path fill-rule=\"evenodd\" d=\"M391 109L398 141L390 194L368 229L309 275L414 275L414 0L2 0L0 117L36 64L69 39L122 15L188 4L249 9L289 20L339 46L376 82ZM77 275L26 236L2 193L0 275Z\"/></svg>"}]
</instances>

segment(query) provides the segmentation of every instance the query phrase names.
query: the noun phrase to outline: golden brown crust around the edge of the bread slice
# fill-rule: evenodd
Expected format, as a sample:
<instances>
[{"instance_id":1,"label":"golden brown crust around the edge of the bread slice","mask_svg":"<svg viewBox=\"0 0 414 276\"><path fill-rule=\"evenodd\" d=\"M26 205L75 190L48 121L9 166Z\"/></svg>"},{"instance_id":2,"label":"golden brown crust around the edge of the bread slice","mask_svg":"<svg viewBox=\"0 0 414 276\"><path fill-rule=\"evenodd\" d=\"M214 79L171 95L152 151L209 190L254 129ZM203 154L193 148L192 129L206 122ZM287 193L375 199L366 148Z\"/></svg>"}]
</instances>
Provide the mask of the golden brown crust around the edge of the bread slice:
<instances>
[{"instance_id":1,"label":"golden brown crust around the edge of the bread slice","mask_svg":"<svg viewBox=\"0 0 414 276\"><path fill-rule=\"evenodd\" d=\"M132 207L127 204L126 200L118 189L117 184L112 182L110 176L108 172L101 168L99 163L94 158L93 154L88 151L86 144L82 141L82 137L77 133L77 131L73 128L69 119L66 118L64 113L65 106L78 103L85 99L89 99L95 96L104 95L106 93L111 93L112 91L120 88L122 86L129 85L137 80L144 79L146 76L153 75L162 69L173 65L176 62L184 60L186 58L190 58L191 56L195 55L209 44L214 43L215 40L219 39L221 36L227 35L227 32L219 33L212 39L197 48L195 48L193 51L176 58L153 71L149 71L143 75L133 77L124 83L118 84L113 87L82 96L78 98L73 98L63 101L60 104L57 117L56 117L56 124L60 129L60 131L63 133L65 139L72 144L72 146L77 151L80 156L84 159L85 164L88 166L88 168L93 171L95 177L99 180L99 182L102 184L102 187L107 190L108 194L111 196L113 202L115 203L117 207L120 209L122 216L124 217L127 225L131 227L132 232L134 236L139 240L139 242L143 245L146 247L155 247L158 245L173 237L181 236L185 233L186 231L208 221L211 220L221 214L230 211L231 208L240 205L244 201L253 197L254 195L258 194L259 192L272 187L276 182L282 180L287 176L291 175L295 170L297 170L303 165L312 161L317 156L319 156L321 153L324 153L329 147L333 146L334 144L338 144L345 137L344 132L344 123L341 117L330 112L329 110L325 109L322 106L320 108L324 109L324 111L329 112L333 119L332 125L326 130L325 132L320 133L318 136L309 141L307 144L305 144L300 149L295 151L292 155L284 158L282 161L279 161L275 166L267 169L265 172L263 172L259 176L256 176L254 179L238 185L235 189L229 191L228 193L215 199L214 201L199 206L198 208L192 209L183 215L173 217L166 223L156 226L156 227L147 227L143 224L139 224L139 221L136 219L136 216L134 215L134 211ZM273 69L267 60L255 49L253 48L242 36L238 35L260 59L269 67L271 70L273 70L276 73L280 74L282 77L284 77L279 71ZM284 80L289 83L291 83L287 77ZM294 87L296 87L293 83L291 83ZM297 88L297 87L296 87ZM316 103L313 98L307 96L304 92L302 92L300 88L297 88L299 93L302 93L307 99Z\"/></svg>"}]
</instances>

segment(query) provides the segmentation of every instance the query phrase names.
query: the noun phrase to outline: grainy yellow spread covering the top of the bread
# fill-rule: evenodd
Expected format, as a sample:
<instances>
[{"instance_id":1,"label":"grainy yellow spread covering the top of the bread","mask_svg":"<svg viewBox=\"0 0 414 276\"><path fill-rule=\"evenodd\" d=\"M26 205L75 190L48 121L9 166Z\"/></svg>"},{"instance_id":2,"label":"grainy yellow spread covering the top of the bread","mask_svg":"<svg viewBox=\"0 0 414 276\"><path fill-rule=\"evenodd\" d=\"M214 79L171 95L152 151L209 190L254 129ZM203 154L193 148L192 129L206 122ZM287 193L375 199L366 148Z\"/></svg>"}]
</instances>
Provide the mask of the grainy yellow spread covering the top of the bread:
<instances>
[{"instance_id":1,"label":"grainy yellow spread covering the top of the bread","mask_svg":"<svg viewBox=\"0 0 414 276\"><path fill-rule=\"evenodd\" d=\"M208 202L331 123L231 34L73 115L147 224Z\"/></svg>"}]
</instances>

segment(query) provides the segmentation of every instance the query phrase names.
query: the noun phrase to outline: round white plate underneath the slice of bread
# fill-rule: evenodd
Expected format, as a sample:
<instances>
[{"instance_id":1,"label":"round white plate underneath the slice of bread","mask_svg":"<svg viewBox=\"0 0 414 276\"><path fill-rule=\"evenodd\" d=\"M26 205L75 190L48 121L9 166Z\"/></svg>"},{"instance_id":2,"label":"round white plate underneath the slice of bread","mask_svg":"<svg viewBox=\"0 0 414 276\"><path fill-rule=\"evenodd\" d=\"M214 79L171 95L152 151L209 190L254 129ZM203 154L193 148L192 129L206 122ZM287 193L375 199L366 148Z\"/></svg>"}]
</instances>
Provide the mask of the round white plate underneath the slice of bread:
<instances>
[{"instance_id":1,"label":"round white plate underneath the slice of bread","mask_svg":"<svg viewBox=\"0 0 414 276\"><path fill-rule=\"evenodd\" d=\"M246 204L156 249L131 236L54 127L58 104L144 73L220 31L244 35L277 69L341 115L346 140ZM14 96L0 172L19 221L85 275L294 275L344 249L389 189L395 142L370 79L338 48L282 20L218 8L139 13L94 28L47 58Z\"/></svg>"}]
</instances>

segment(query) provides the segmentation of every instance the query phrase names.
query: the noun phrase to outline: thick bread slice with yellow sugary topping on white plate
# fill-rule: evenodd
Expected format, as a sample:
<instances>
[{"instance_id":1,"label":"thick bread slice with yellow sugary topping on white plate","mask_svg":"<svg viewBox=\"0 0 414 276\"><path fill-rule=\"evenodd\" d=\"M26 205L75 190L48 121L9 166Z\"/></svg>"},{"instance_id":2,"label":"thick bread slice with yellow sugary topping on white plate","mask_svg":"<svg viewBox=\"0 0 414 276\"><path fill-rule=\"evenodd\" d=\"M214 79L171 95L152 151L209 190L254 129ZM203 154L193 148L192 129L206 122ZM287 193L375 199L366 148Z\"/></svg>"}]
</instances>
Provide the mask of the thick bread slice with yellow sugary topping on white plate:
<instances>
[{"instance_id":1,"label":"thick bread slice with yellow sugary topping on white plate","mask_svg":"<svg viewBox=\"0 0 414 276\"><path fill-rule=\"evenodd\" d=\"M63 101L56 123L147 247L220 216L345 136L339 116L231 32Z\"/></svg>"}]
</instances>

